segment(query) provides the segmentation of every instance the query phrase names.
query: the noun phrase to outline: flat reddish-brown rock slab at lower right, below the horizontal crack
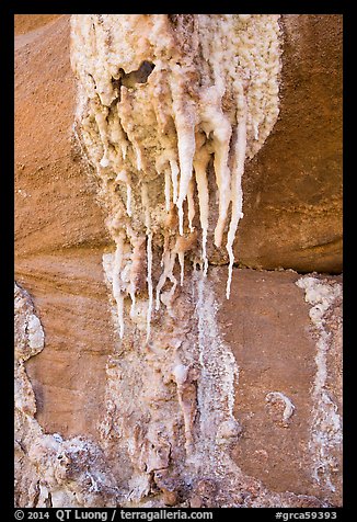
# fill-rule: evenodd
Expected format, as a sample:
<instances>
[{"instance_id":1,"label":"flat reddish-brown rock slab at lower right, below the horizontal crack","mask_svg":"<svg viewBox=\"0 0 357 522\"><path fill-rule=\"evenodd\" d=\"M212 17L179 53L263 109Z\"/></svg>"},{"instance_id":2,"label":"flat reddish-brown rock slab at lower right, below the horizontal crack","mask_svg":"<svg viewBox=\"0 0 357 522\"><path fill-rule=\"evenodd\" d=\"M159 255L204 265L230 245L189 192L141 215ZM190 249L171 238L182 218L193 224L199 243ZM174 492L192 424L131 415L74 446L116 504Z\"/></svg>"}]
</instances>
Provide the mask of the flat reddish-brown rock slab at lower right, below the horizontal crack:
<instances>
[{"instance_id":1,"label":"flat reddish-brown rock slab at lower right, below the horizontal crack","mask_svg":"<svg viewBox=\"0 0 357 522\"><path fill-rule=\"evenodd\" d=\"M232 298L221 306L222 334L240 364L234 411L245 424L240 443L233 450L233 458L245 473L274 490L318 496L324 491L332 502L339 504L342 279L313 275L299 279L293 272L241 271L235 277ZM316 292L314 305L318 308L324 302L324 293L335 292L330 307L323 311L326 330L323 334L327 338L325 362L319 344L321 331L309 317L311 304L297 287L303 288L310 280L323 283L322 297ZM302 303L303 298L309 306ZM234 317L239 320L233 322L232 329ZM322 382L324 364L326 376ZM286 410L281 397L275 396L272 400L269 394L275 392L283 393L291 401L292 410ZM332 401L329 405L329 397L324 397L327 408L321 405L324 392L330 394ZM338 418L334 418L334 412ZM318 425L324 425L324 434ZM326 447L327 441L323 439L329 439L329 433L332 441L326 461L331 459L331 465L322 464L320 455L322 447ZM316 439L323 442L316 444ZM334 466L336 449L339 457ZM286 455L289 455L288 459ZM325 465L329 469L316 477L315 470ZM332 488L324 484L329 476Z\"/></svg>"}]
</instances>

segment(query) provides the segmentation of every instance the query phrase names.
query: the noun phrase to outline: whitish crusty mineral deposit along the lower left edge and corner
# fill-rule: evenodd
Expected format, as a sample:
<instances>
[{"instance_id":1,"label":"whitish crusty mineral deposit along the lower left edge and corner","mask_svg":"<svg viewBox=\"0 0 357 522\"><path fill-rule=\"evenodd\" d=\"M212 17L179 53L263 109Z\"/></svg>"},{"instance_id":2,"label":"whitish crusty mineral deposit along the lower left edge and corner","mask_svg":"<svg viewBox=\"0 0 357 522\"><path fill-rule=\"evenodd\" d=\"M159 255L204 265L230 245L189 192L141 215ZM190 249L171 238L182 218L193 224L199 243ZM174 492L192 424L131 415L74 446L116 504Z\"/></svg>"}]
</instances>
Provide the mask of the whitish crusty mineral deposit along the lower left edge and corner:
<instances>
[{"instance_id":1,"label":"whitish crusty mineral deposit along the lower left edge and corner","mask_svg":"<svg viewBox=\"0 0 357 522\"><path fill-rule=\"evenodd\" d=\"M31 297L14 285L14 472L21 508L114 507L118 491L101 449L82 436L47 434L35 419L36 399L25 362L45 347Z\"/></svg>"}]
</instances>

